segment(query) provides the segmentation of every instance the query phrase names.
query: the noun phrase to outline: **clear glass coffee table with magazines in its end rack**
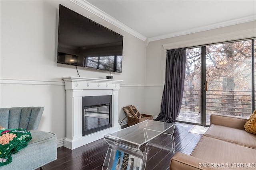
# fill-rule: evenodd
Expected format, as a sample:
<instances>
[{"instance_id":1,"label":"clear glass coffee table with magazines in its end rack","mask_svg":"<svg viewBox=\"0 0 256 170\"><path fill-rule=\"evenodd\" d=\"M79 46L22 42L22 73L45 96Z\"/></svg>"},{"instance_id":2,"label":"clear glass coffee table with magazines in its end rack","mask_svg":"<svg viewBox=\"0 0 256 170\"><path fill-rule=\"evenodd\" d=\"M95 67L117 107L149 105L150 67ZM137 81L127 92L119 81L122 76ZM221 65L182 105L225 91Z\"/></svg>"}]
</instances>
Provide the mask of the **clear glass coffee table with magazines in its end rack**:
<instances>
[{"instance_id":1,"label":"clear glass coffee table with magazines in its end rack","mask_svg":"<svg viewBox=\"0 0 256 170\"><path fill-rule=\"evenodd\" d=\"M147 153L144 144L174 152L175 124L146 120L104 136L108 151L102 170L144 170Z\"/></svg>"}]
</instances>

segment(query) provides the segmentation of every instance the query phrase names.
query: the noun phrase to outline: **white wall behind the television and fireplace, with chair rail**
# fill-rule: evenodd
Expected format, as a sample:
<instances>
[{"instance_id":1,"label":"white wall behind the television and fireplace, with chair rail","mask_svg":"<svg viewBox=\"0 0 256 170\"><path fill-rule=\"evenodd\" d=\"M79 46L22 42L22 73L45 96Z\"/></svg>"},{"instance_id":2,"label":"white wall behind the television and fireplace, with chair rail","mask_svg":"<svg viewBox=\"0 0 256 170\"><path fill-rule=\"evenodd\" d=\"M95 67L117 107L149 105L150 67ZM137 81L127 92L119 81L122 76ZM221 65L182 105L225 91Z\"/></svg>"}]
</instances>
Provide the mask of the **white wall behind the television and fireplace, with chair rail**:
<instances>
[{"instance_id":1,"label":"white wall behind the television and fireplace, with chair rail","mask_svg":"<svg viewBox=\"0 0 256 170\"><path fill-rule=\"evenodd\" d=\"M62 77L78 76L74 66L56 63L58 8L62 4L124 36L119 96L119 120L126 115L122 107L144 109L146 47L142 40L65 1L0 1L1 9L1 100L0 107L43 106L38 130L66 137L66 92ZM81 77L106 78L109 72L78 68Z\"/></svg>"}]
</instances>

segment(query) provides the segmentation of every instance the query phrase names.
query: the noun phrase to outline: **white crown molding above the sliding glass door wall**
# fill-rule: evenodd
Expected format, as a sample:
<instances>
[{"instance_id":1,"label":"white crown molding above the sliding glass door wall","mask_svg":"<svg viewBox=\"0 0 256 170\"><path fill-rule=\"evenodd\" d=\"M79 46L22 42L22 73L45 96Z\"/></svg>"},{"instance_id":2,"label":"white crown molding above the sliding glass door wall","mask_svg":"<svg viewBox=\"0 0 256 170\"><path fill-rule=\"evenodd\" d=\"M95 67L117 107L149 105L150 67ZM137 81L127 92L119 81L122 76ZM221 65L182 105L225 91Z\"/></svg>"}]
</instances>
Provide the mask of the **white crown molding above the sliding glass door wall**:
<instances>
[{"instance_id":1,"label":"white crown molding above the sliding glass door wall","mask_svg":"<svg viewBox=\"0 0 256 170\"><path fill-rule=\"evenodd\" d=\"M181 36L181 35L187 35L187 34L191 34L191 33L201 32L201 31L208 31L210 29L227 27L227 26L236 25L236 24L240 24L240 23L246 23L246 22L255 21L255 20L256 20L256 16L248 16L248 17L239 18L239 19L236 19L236 20L229 20L229 21L225 21L225 22L206 25L206 26L203 26L203 27L196 27L194 29L178 31L178 32L175 32L175 33L159 35L159 36L156 36L156 37L149 37L148 41L149 42L150 41L157 41L157 40L160 40L160 39L177 37L177 36Z\"/></svg>"}]
</instances>

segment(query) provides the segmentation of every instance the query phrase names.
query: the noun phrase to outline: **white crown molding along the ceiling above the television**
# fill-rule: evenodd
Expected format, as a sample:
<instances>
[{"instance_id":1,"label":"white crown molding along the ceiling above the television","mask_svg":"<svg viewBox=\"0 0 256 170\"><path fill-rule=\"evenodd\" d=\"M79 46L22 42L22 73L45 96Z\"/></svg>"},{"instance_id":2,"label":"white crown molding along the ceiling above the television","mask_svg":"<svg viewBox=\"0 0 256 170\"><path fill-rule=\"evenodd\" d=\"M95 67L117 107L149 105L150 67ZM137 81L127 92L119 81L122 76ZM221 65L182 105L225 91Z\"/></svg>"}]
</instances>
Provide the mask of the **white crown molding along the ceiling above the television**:
<instances>
[{"instance_id":1,"label":"white crown molding along the ceiling above the television","mask_svg":"<svg viewBox=\"0 0 256 170\"><path fill-rule=\"evenodd\" d=\"M92 4L87 2L86 0L70 0L70 1L73 2L76 5L84 8L85 10L91 12L92 14L100 17L101 19L103 19L105 21L108 21L109 23L115 25L116 27L130 33L131 35L134 35L138 39L141 39L142 41L146 41L147 37L145 37L144 35L141 35L137 31L134 31L134 29L131 29L127 25L125 25L125 24L121 23L120 21L114 19L112 16L106 14L105 12L100 10L99 8L96 8L95 6L93 6Z\"/></svg>"}]
</instances>

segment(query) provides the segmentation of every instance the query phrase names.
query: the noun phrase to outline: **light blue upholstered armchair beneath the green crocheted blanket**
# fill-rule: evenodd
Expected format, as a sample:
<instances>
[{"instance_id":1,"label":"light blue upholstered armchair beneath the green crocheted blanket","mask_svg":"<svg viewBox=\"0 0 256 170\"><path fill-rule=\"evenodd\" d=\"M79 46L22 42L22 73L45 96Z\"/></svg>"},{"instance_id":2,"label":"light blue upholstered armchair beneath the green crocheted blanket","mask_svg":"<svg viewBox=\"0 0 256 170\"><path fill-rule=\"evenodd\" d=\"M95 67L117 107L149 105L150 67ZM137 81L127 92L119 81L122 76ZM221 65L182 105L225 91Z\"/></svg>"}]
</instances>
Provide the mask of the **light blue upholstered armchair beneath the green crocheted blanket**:
<instances>
[{"instance_id":1,"label":"light blue upholstered armchair beneath the green crocheted blanket","mask_svg":"<svg viewBox=\"0 0 256 170\"><path fill-rule=\"evenodd\" d=\"M37 131L44 107L12 107L0 109L0 125L6 129L30 131L28 146L12 154L12 162L1 170L34 170L57 159L57 138L54 133Z\"/></svg>"}]
</instances>

